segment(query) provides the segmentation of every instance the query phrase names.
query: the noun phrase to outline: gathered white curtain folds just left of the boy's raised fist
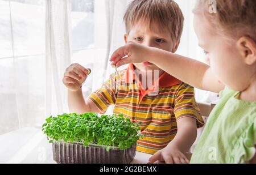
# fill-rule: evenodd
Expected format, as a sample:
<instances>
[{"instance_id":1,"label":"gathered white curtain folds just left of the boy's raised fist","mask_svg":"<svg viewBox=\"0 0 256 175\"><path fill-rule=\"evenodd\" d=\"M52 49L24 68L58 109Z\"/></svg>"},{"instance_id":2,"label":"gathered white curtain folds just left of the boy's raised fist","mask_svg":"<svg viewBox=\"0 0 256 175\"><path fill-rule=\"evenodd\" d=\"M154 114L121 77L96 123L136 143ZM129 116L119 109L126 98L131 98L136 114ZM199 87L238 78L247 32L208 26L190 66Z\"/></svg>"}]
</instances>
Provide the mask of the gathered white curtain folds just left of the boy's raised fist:
<instances>
[{"instance_id":1,"label":"gathered white curtain folds just left of the boy's raised fist","mask_svg":"<svg viewBox=\"0 0 256 175\"><path fill-rule=\"evenodd\" d=\"M46 4L46 115L68 112L67 88L62 78L71 65L71 3L47 0Z\"/></svg>"}]
</instances>

